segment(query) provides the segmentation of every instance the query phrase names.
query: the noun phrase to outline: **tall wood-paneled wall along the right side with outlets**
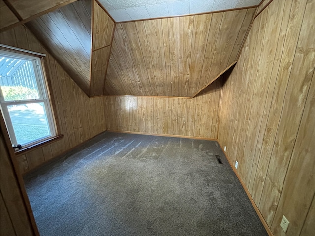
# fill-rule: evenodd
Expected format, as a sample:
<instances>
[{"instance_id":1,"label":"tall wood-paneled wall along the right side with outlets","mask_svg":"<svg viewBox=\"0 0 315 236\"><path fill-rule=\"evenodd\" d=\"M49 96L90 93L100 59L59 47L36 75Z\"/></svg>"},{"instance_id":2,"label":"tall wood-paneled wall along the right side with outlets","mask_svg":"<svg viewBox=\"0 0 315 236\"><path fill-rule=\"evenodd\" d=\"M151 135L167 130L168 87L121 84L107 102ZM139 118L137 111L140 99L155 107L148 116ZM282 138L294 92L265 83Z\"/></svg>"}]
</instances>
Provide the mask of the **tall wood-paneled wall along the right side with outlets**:
<instances>
[{"instance_id":1,"label":"tall wood-paneled wall along the right side with outlets","mask_svg":"<svg viewBox=\"0 0 315 236\"><path fill-rule=\"evenodd\" d=\"M219 142L275 236L315 232L314 0L274 0L222 89ZM313 221L312 221L313 220Z\"/></svg>"}]
</instances>

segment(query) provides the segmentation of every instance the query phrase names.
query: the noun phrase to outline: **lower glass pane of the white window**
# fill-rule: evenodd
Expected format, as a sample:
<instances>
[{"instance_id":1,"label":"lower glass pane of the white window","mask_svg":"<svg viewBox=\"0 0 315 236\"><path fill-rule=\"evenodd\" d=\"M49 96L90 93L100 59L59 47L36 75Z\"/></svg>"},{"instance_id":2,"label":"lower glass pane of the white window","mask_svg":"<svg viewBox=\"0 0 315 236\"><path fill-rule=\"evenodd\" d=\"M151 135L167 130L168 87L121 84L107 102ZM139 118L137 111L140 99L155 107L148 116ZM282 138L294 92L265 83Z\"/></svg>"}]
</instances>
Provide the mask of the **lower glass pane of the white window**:
<instances>
[{"instance_id":1,"label":"lower glass pane of the white window","mask_svg":"<svg viewBox=\"0 0 315 236\"><path fill-rule=\"evenodd\" d=\"M8 106L18 144L50 136L44 103L28 103Z\"/></svg>"}]
</instances>

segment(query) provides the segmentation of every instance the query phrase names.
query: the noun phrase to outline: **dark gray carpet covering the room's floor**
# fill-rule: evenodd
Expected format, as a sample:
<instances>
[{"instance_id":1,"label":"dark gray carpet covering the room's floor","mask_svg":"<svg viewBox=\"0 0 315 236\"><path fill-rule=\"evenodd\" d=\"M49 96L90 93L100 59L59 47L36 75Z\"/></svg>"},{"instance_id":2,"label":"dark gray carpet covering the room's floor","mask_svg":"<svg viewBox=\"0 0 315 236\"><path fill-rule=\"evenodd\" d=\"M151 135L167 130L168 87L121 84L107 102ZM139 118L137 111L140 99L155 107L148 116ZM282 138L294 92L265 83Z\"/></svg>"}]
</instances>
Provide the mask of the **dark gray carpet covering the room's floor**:
<instances>
[{"instance_id":1,"label":"dark gray carpet covering the room's floor","mask_svg":"<svg viewBox=\"0 0 315 236\"><path fill-rule=\"evenodd\" d=\"M41 236L267 236L214 141L105 132L24 179Z\"/></svg>"}]
</instances>

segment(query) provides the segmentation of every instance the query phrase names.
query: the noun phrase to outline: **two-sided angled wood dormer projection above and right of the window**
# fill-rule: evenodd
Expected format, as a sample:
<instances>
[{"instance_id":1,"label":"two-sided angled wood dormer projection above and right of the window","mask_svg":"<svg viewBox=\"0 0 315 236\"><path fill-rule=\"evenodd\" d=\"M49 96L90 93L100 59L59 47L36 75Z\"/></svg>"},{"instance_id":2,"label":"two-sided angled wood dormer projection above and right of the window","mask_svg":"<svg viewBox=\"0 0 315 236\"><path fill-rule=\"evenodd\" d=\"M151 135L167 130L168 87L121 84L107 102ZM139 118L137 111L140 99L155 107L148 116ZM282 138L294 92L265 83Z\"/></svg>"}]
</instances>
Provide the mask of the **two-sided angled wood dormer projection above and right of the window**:
<instances>
[{"instance_id":1,"label":"two-sided angled wood dormer projection above and right of the window","mask_svg":"<svg viewBox=\"0 0 315 236\"><path fill-rule=\"evenodd\" d=\"M114 22L95 1L75 1L26 26L87 95L104 95Z\"/></svg>"}]
</instances>

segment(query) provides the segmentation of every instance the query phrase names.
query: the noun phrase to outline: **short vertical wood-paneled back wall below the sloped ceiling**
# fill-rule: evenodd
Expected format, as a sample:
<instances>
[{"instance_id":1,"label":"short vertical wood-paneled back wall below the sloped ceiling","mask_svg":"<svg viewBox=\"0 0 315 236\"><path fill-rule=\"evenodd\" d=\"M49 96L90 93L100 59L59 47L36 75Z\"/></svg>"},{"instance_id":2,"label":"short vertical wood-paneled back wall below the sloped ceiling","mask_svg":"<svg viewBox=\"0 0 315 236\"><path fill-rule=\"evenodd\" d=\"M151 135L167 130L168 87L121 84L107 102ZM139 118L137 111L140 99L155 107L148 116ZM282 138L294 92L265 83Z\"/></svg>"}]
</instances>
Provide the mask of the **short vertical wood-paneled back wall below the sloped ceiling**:
<instances>
[{"instance_id":1,"label":"short vertical wood-paneled back wall below the sloped ceiling","mask_svg":"<svg viewBox=\"0 0 315 236\"><path fill-rule=\"evenodd\" d=\"M216 139L220 96L220 79L192 99L108 96L107 129Z\"/></svg>"}]
</instances>

